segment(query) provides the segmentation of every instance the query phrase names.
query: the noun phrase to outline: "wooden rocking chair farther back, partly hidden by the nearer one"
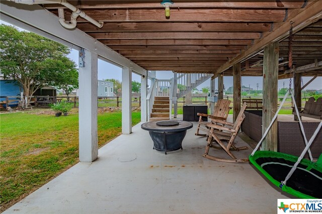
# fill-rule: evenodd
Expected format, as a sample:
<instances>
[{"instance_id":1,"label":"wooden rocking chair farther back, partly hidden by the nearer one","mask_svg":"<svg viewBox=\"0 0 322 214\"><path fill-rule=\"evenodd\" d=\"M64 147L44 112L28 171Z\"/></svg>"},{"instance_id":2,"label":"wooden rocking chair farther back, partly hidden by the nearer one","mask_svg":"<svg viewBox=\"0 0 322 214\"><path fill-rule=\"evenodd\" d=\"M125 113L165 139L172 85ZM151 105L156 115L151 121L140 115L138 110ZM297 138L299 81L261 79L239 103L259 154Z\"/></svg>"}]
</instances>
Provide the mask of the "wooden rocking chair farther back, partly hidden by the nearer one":
<instances>
[{"instance_id":1,"label":"wooden rocking chair farther back, partly hidden by the nearer one","mask_svg":"<svg viewBox=\"0 0 322 214\"><path fill-rule=\"evenodd\" d=\"M210 129L208 128L208 125L215 123L214 120L226 121L230 110L229 108L230 102L231 101L228 99L218 99L213 115L198 113L197 115L199 116L199 122L198 122L198 127L195 135L206 136L207 134L200 134L199 132L200 130L202 130L208 133ZM203 117L207 117L207 119L210 118L211 122L203 121L202 120Z\"/></svg>"}]
</instances>

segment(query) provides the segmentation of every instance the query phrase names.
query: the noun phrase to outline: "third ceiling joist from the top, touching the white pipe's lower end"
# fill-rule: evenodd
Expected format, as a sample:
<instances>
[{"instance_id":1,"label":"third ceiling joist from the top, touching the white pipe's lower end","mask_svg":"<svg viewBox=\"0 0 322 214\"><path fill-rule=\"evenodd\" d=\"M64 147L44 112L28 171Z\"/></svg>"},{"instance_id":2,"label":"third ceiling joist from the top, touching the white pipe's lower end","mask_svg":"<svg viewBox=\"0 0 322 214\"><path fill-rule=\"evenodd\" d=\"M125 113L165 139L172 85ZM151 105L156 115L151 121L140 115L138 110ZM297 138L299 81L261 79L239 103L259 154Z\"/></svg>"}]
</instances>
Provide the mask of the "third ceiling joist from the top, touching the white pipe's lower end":
<instances>
[{"instance_id":1,"label":"third ceiling joist from the top, touching the white pipe's lower end","mask_svg":"<svg viewBox=\"0 0 322 214\"><path fill-rule=\"evenodd\" d=\"M77 28L86 33L100 32L266 32L271 31L271 23L159 23L123 22L105 23L98 28L90 23L79 23Z\"/></svg>"}]
</instances>

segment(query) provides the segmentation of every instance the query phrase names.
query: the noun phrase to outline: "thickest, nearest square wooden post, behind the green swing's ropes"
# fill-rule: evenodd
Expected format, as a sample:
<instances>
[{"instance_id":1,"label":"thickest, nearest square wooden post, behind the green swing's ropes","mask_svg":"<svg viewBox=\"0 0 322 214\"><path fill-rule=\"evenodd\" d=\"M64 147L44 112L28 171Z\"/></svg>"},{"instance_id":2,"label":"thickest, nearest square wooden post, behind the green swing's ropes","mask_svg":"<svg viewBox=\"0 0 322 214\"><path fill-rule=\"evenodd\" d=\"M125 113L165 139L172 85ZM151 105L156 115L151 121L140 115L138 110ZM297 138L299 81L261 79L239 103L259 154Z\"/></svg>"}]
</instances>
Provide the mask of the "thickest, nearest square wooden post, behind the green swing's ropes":
<instances>
[{"instance_id":1,"label":"thickest, nearest square wooden post, behind the green swing's ropes","mask_svg":"<svg viewBox=\"0 0 322 214\"><path fill-rule=\"evenodd\" d=\"M278 53L278 42L270 43L264 48L263 133L266 131L277 112ZM274 122L263 141L261 150L277 151L277 120Z\"/></svg>"}]
</instances>

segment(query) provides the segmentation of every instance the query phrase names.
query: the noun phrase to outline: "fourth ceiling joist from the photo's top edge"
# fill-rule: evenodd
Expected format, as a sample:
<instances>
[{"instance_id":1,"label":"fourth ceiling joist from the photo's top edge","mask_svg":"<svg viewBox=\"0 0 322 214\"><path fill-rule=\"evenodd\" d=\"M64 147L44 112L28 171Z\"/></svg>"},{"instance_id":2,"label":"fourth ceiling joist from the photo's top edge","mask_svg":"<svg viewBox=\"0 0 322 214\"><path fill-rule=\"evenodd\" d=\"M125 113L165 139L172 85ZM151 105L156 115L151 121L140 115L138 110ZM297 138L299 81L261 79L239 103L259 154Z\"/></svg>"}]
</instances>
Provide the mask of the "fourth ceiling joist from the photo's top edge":
<instances>
[{"instance_id":1,"label":"fourth ceiling joist from the photo's top edge","mask_svg":"<svg viewBox=\"0 0 322 214\"><path fill-rule=\"evenodd\" d=\"M260 33L251 32L133 32L89 33L95 39L259 39Z\"/></svg>"}]
</instances>

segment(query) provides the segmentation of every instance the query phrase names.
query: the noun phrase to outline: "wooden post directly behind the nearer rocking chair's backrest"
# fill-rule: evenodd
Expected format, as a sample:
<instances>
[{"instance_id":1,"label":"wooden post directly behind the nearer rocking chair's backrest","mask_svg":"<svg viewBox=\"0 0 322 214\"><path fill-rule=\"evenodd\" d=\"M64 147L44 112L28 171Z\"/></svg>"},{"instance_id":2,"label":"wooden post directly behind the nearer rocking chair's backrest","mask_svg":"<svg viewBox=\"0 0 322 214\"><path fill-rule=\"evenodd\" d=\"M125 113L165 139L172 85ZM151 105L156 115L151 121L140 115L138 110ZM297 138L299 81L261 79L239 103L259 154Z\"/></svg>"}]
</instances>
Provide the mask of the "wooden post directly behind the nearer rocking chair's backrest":
<instances>
[{"instance_id":1,"label":"wooden post directly behind the nearer rocking chair's backrest","mask_svg":"<svg viewBox=\"0 0 322 214\"><path fill-rule=\"evenodd\" d=\"M232 66L233 75L233 122L235 122L240 112L241 102L241 66L240 63L236 63Z\"/></svg>"}]
</instances>

